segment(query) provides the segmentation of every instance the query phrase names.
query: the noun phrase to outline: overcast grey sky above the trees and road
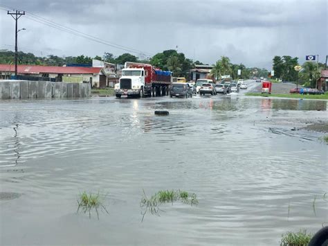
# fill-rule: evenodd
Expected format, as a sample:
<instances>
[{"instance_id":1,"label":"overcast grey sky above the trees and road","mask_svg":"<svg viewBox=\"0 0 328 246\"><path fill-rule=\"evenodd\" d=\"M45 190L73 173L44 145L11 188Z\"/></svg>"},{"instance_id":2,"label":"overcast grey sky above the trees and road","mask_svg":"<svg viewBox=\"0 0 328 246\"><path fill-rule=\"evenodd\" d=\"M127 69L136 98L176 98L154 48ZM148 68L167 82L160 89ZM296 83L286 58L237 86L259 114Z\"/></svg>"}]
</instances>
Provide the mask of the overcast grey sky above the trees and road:
<instances>
[{"instance_id":1,"label":"overcast grey sky above the trees and road","mask_svg":"<svg viewBox=\"0 0 328 246\"><path fill-rule=\"evenodd\" d=\"M37 56L147 58L176 49L206 64L225 55L271 69L275 55L325 62L327 8L327 0L1 0L0 49L15 50L15 20L7 15L15 9L26 11L19 50Z\"/></svg>"}]
</instances>

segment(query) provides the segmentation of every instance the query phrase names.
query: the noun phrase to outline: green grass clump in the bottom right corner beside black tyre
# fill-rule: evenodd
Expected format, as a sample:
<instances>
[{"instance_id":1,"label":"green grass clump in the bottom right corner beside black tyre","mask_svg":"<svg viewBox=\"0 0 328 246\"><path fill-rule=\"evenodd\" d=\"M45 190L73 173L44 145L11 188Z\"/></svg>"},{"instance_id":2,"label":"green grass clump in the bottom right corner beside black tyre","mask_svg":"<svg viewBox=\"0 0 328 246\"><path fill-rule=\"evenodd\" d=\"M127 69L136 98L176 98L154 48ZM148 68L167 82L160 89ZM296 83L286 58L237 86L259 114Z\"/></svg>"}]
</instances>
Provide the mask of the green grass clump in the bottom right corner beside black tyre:
<instances>
[{"instance_id":1,"label":"green grass clump in the bottom right corner beside black tyre","mask_svg":"<svg viewBox=\"0 0 328 246\"><path fill-rule=\"evenodd\" d=\"M281 246L307 246L312 238L312 234L307 234L306 230L298 232L286 232L282 234Z\"/></svg>"}]
</instances>

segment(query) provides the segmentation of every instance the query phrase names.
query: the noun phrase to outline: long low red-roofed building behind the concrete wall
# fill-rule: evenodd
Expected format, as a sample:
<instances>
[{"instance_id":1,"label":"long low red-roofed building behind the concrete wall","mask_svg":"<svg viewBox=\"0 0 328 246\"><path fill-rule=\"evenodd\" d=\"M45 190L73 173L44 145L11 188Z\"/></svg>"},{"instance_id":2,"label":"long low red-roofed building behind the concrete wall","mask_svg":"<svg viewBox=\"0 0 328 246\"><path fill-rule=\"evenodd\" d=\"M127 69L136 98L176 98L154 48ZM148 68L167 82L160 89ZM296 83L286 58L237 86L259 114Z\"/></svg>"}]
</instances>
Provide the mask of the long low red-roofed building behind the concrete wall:
<instances>
[{"instance_id":1,"label":"long low red-roofed building behind the concrete wall","mask_svg":"<svg viewBox=\"0 0 328 246\"><path fill-rule=\"evenodd\" d=\"M105 87L107 75L102 67L55 67L18 65L20 80L46 80L55 82L90 82L91 87ZM0 79L15 76L15 65L0 64Z\"/></svg>"}]
</instances>

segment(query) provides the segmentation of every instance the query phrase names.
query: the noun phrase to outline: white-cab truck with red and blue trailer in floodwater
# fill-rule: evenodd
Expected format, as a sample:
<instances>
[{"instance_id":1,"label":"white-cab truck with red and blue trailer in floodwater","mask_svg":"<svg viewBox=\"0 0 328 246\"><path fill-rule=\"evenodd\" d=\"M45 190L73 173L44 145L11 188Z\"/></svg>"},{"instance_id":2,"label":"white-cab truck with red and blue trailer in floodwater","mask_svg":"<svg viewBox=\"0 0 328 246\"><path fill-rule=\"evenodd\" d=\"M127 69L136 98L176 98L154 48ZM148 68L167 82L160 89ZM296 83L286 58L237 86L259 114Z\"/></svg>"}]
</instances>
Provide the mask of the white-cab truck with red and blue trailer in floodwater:
<instances>
[{"instance_id":1,"label":"white-cab truck with red and blue trailer in floodwater","mask_svg":"<svg viewBox=\"0 0 328 246\"><path fill-rule=\"evenodd\" d=\"M172 84L172 73L161 71L151 64L125 62L122 77L115 85L117 98L134 96L168 96Z\"/></svg>"}]
</instances>

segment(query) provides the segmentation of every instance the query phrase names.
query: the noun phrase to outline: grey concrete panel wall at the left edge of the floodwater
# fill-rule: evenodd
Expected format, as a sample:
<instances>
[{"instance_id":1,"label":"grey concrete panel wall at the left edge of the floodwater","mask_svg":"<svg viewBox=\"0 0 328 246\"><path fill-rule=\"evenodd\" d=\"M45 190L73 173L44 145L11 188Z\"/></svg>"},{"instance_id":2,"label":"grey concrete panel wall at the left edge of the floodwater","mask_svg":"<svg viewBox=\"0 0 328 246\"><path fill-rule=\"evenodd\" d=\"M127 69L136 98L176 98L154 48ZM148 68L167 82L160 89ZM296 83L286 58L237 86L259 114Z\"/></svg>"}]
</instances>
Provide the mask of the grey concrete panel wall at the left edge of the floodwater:
<instances>
[{"instance_id":1,"label":"grey concrete panel wall at the left edge of the floodwater","mask_svg":"<svg viewBox=\"0 0 328 246\"><path fill-rule=\"evenodd\" d=\"M89 83L0 80L0 99L85 98L91 96Z\"/></svg>"}]
</instances>

